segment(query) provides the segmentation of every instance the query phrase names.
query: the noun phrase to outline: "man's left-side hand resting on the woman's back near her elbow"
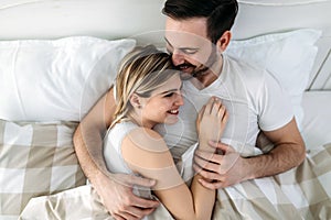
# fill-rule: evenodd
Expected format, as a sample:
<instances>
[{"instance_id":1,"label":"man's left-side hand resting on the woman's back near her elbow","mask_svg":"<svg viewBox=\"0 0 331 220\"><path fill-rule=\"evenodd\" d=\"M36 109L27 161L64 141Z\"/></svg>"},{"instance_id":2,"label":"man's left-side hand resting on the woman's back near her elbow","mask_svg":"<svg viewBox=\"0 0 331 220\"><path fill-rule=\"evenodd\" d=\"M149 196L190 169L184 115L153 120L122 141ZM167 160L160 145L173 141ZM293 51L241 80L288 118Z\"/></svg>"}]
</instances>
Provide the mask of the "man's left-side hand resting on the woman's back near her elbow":
<instances>
[{"instance_id":1,"label":"man's left-side hand resting on the woman's back near her elbow","mask_svg":"<svg viewBox=\"0 0 331 220\"><path fill-rule=\"evenodd\" d=\"M132 186L152 187L154 180L126 174L100 174L94 188L108 212L117 220L142 219L159 206L159 201L143 199L132 193Z\"/></svg>"}]
</instances>

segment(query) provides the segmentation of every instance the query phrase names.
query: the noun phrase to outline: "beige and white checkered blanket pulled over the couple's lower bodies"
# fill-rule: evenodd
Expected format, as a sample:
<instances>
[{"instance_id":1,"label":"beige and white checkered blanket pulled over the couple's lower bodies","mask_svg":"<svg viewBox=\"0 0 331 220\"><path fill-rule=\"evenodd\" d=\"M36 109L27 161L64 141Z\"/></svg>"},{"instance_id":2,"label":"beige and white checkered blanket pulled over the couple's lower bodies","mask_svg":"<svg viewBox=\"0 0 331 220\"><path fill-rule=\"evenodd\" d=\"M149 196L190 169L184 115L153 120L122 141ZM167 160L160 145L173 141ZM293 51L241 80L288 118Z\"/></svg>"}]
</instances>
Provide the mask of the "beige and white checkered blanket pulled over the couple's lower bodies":
<instances>
[{"instance_id":1,"label":"beige and white checkered blanket pulled over the couple's lower bodies","mask_svg":"<svg viewBox=\"0 0 331 220\"><path fill-rule=\"evenodd\" d=\"M307 152L302 165L275 177L218 189L213 219L331 219L331 144ZM36 218L39 217L39 218ZM90 186L32 199L21 219L111 219ZM161 207L147 219L171 219Z\"/></svg>"}]
</instances>

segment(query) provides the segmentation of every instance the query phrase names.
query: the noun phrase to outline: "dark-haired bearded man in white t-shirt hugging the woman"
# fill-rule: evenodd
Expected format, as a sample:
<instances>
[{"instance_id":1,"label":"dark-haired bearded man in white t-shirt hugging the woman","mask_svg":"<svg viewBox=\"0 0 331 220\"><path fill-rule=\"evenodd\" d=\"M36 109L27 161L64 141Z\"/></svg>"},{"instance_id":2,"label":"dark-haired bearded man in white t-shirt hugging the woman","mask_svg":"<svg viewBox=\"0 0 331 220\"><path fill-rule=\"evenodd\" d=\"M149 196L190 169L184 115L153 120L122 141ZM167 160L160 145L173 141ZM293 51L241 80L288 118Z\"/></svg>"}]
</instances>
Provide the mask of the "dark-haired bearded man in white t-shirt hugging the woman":
<instances>
[{"instance_id":1,"label":"dark-haired bearded man in white t-shirt hugging the woman","mask_svg":"<svg viewBox=\"0 0 331 220\"><path fill-rule=\"evenodd\" d=\"M158 128L168 131L164 139L172 146L174 160L196 142L196 112L210 96L218 96L229 110L229 122L223 143L213 142L211 146L222 154L196 151L194 158L194 168L204 177L201 183L205 187L233 186L298 166L305 158L305 145L281 88L264 70L223 54L232 37L237 2L168 0L163 13L167 48L174 65L189 78L183 85L186 97L180 116L182 123ZM152 187L154 183L107 172L102 142L114 109L110 89L77 128L75 148L83 170L111 216L140 219L152 212L158 202L136 197L131 187ZM274 148L256 155L252 145L260 129Z\"/></svg>"}]
</instances>

